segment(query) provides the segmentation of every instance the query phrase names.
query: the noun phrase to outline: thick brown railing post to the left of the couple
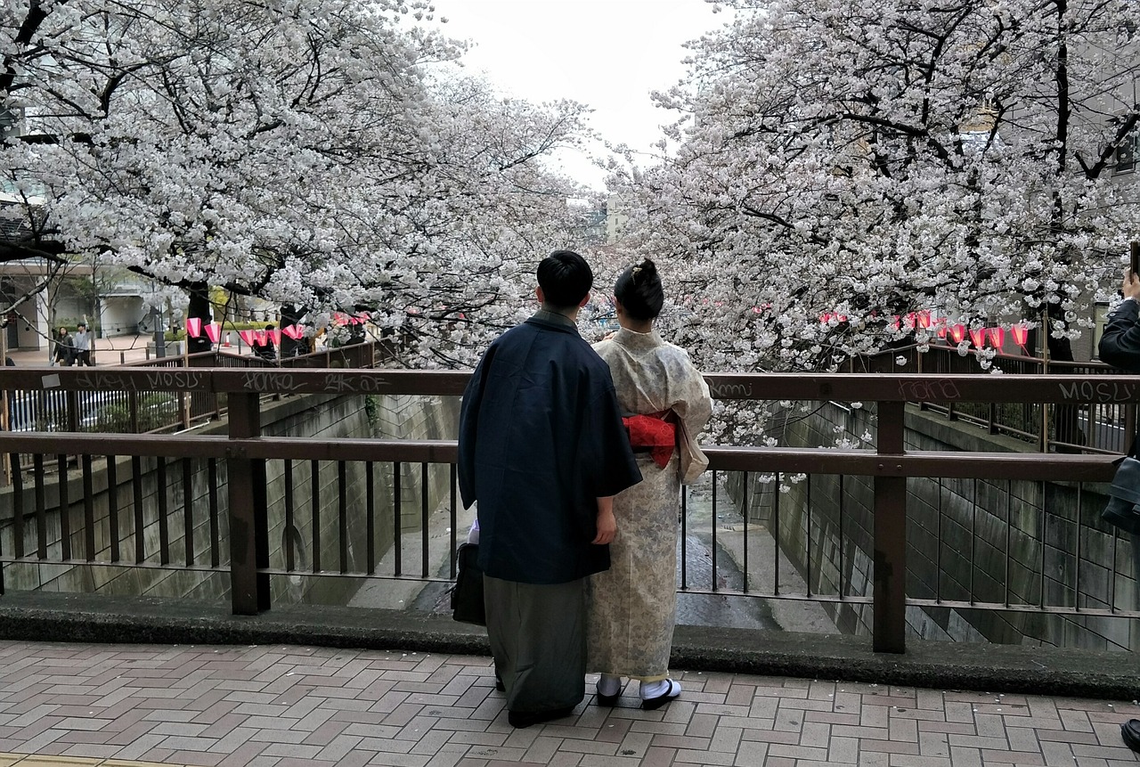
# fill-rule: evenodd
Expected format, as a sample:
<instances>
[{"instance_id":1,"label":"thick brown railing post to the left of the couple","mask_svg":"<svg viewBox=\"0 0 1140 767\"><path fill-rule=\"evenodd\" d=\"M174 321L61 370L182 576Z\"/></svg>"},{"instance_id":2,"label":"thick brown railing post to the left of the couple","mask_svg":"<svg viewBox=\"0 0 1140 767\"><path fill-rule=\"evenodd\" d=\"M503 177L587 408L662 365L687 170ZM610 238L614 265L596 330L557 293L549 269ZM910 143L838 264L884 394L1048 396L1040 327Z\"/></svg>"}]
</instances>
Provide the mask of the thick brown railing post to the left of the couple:
<instances>
[{"instance_id":1,"label":"thick brown railing post to the left of the couple","mask_svg":"<svg viewBox=\"0 0 1140 767\"><path fill-rule=\"evenodd\" d=\"M258 394L229 394L229 435L261 435ZM226 458L229 487L230 596L235 615L269 610L269 528L266 505L266 462L234 450Z\"/></svg>"}]
</instances>

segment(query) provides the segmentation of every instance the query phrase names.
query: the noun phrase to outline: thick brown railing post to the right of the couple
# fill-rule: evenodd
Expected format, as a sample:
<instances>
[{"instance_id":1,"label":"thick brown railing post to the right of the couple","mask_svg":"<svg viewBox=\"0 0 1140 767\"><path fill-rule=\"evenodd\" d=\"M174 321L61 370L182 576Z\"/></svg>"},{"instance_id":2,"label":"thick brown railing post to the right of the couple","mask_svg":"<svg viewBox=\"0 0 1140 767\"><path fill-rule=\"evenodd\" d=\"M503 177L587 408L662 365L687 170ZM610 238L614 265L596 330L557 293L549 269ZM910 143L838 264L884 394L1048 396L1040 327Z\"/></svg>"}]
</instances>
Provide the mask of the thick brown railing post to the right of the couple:
<instances>
[{"instance_id":1,"label":"thick brown railing post to the right of the couple","mask_svg":"<svg viewBox=\"0 0 1140 767\"><path fill-rule=\"evenodd\" d=\"M905 402L879 402L879 468L901 456ZM874 652L906 652L906 478L874 478Z\"/></svg>"}]
</instances>

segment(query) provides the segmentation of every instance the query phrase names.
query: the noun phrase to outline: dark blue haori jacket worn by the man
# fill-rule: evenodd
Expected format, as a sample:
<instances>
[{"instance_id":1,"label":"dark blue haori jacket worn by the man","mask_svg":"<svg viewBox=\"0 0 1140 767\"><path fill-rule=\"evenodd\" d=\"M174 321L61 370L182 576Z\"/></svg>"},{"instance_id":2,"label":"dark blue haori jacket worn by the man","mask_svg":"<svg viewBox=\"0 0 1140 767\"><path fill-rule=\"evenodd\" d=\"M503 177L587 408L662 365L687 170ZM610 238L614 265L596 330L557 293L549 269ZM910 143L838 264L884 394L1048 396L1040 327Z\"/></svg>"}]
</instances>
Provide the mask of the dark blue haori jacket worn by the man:
<instances>
[{"instance_id":1,"label":"dark blue haori jacket worn by the man","mask_svg":"<svg viewBox=\"0 0 1140 767\"><path fill-rule=\"evenodd\" d=\"M539 311L499 336L459 416L459 491L479 501L479 565L564 584L610 566L597 498L641 481L605 362L575 324Z\"/></svg>"}]
</instances>

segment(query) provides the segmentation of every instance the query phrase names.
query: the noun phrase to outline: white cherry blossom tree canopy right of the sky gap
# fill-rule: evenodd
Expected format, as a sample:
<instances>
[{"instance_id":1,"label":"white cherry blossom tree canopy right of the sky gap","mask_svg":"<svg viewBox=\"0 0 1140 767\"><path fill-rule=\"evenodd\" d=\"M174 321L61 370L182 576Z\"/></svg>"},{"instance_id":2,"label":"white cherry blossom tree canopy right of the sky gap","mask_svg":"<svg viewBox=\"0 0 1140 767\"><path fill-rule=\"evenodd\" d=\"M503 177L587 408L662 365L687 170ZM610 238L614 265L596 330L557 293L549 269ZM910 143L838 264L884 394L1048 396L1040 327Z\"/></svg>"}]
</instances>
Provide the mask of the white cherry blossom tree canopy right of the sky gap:
<instances>
[{"instance_id":1,"label":"white cherry blossom tree canopy right of the sky gap","mask_svg":"<svg viewBox=\"0 0 1140 767\"><path fill-rule=\"evenodd\" d=\"M684 115L675 155L614 176L700 364L836 369L928 342L898 321L921 310L1047 313L1065 358L1140 225L1115 172L1140 120L1135 3L720 5L658 96Z\"/></svg>"}]
</instances>

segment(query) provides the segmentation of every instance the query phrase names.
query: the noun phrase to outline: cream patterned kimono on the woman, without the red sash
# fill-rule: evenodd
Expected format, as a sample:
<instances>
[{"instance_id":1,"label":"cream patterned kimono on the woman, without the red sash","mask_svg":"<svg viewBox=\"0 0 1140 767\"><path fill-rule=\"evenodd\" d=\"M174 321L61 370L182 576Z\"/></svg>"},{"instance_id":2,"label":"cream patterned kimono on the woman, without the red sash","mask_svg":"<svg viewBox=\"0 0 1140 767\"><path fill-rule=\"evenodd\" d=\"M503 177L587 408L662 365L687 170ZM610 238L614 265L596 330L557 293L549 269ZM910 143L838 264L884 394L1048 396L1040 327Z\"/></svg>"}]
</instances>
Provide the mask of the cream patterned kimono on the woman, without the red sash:
<instances>
[{"instance_id":1,"label":"cream patterned kimono on the woman, without the red sash","mask_svg":"<svg viewBox=\"0 0 1140 767\"><path fill-rule=\"evenodd\" d=\"M587 668L656 682L668 677L676 623L681 484L708 465L697 435L712 403L689 354L657 332L622 328L594 350L610 366L624 415L676 414L670 421L677 424L677 449L665 468L650 454L637 454L643 480L614 497L610 569L589 582Z\"/></svg>"}]
</instances>

